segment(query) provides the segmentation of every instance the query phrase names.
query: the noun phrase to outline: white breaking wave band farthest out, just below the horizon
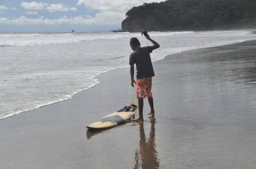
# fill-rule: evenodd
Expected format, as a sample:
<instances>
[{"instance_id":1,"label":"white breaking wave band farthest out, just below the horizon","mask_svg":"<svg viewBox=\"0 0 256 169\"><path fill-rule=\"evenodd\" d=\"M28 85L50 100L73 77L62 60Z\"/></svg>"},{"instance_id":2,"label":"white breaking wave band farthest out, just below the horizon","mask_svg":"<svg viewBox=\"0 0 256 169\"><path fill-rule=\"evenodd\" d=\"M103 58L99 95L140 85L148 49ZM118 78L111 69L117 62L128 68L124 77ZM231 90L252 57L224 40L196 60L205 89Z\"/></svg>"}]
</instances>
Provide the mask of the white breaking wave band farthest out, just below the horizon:
<instances>
[{"instance_id":1,"label":"white breaking wave band farthest out, just below the horizon","mask_svg":"<svg viewBox=\"0 0 256 169\"><path fill-rule=\"evenodd\" d=\"M192 34L193 31L184 32L149 32L151 36L172 36L175 34ZM140 34L139 34L140 35ZM138 33L107 32L107 33L9 33L0 34L0 47L55 45L66 43L79 43L101 39L121 39L136 37Z\"/></svg>"}]
</instances>

